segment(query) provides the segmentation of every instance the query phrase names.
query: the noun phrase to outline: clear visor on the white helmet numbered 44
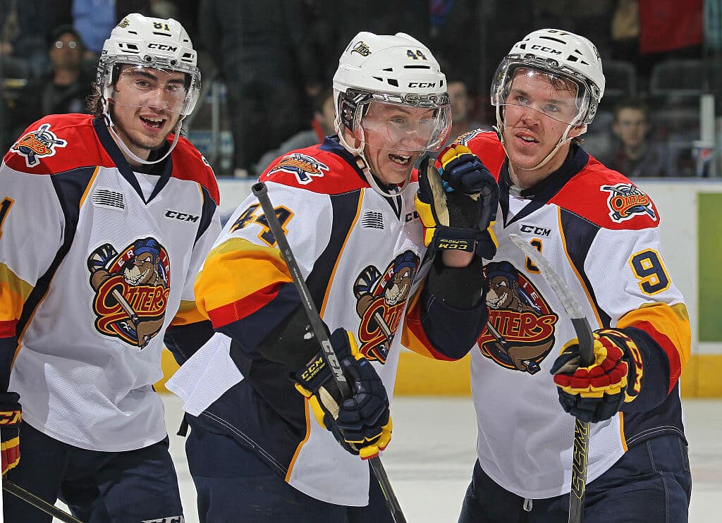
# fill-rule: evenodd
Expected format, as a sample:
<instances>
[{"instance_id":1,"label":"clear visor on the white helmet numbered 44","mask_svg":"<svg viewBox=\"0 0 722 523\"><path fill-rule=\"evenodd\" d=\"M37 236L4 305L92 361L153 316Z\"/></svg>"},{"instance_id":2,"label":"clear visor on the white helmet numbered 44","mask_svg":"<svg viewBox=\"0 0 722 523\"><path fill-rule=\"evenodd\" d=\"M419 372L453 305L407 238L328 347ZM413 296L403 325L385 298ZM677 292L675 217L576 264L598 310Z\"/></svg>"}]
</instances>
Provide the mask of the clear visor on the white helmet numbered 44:
<instances>
[{"instance_id":1,"label":"clear visor on the white helmet numbered 44","mask_svg":"<svg viewBox=\"0 0 722 523\"><path fill-rule=\"evenodd\" d=\"M363 115L363 116L361 116ZM438 151L451 131L451 109L371 100L357 111L357 138L388 151ZM361 136L359 136L361 135Z\"/></svg>"}]
</instances>

